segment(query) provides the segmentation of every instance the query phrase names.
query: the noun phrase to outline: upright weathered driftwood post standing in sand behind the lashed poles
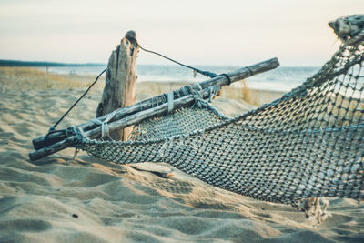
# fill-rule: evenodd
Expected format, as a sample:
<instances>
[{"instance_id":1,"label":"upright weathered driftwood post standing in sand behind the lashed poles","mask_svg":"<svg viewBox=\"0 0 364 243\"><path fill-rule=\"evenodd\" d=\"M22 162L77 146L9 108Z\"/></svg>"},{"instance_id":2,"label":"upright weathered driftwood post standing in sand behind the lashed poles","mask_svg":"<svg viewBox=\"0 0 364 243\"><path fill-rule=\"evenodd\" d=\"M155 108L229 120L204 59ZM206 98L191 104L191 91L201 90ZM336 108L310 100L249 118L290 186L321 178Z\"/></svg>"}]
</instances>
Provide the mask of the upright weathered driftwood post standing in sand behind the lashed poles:
<instances>
[{"instance_id":1,"label":"upright weathered driftwood post standing in sand behind the lashed poles","mask_svg":"<svg viewBox=\"0 0 364 243\"><path fill-rule=\"evenodd\" d=\"M96 117L104 116L114 110L131 106L136 102L136 57L138 45L136 32L126 32L120 45L111 53L106 71L106 84L101 102L96 109ZM110 133L114 140L125 141L133 127Z\"/></svg>"}]
</instances>

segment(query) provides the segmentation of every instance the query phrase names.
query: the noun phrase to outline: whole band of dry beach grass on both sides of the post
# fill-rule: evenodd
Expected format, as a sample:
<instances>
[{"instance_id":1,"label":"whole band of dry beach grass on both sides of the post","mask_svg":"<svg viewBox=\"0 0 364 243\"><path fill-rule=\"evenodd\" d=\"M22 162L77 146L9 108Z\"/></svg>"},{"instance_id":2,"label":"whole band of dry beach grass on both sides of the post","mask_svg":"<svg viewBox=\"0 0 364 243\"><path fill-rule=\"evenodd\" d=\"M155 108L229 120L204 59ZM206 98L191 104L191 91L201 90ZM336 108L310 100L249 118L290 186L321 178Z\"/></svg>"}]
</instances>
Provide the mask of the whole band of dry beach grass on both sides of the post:
<instances>
[{"instance_id":1,"label":"whole band of dry beach grass on both sides of the post","mask_svg":"<svg viewBox=\"0 0 364 243\"><path fill-rule=\"evenodd\" d=\"M20 90L43 90L43 89L86 89L96 76L58 75L46 73L35 67L4 67L0 66L0 88ZM272 101L283 93L254 90L248 88L245 80L242 87L226 86L222 90L221 97L244 101L253 106ZM102 92L105 84L105 76L93 87L96 92ZM188 83L183 82L141 82L136 83L137 99L144 99L150 96L157 96L168 93Z\"/></svg>"}]
</instances>

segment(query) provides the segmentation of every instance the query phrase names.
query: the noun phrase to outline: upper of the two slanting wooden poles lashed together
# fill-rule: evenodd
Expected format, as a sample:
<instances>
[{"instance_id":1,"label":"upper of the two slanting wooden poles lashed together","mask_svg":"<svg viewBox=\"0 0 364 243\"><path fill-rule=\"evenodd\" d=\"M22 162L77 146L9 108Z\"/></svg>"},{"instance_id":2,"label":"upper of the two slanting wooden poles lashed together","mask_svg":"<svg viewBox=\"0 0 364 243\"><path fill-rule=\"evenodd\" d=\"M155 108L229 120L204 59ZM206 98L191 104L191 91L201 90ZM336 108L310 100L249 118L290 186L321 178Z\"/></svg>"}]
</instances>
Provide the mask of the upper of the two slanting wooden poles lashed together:
<instances>
[{"instance_id":1,"label":"upper of the two slanting wooden poles lashed together","mask_svg":"<svg viewBox=\"0 0 364 243\"><path fill-rule=\"evenodd\" d=\"M237 82L241 79L247 78L249 76L255 76L260 73L267 72L271 69L277 68L278 66L279 66L278 59L272 58L272 59L268 59L267 61L263 61L258 64L252 65L252 66L246 66L246 67L239 68L238 70L236 70L234 72L227 73L227 76L229 76L231 82L233 83L233 82ZM216 86L216 85L227 86L227 84L228 84L227 76L216 76L214 78L207 79L206 81L201 82L199 85L203 89L207 88L208 86ZM186 88L186 86L183 88ZM182 92L180 92L180 90L182 90L183 88L181 88L177 91L174 91L175 99L177 99L178 97L181 96L181 94L183 94ZM167 94L149 98L144 101L138 102L135 105L127 106L124 108L119 108L116 111L116 115L110 120L110 122L122 119L125 116L130 116L132 114L135 114L136 112L139 112L140 110L149 109L156 103L161 104L161 103L165 102L165 99L163 98L163 96L166 96L166 95ZM106 117L107 117L107 115L100 116L100 117L98 117L98 119L100 121L104 121L106 119ZM98 126L99 125L97 125L96 123L94 123L91 120L91 121L87 121L84 124L76 126L76 128L80 128L83 131L88 131L88 130L94 129ZM66 129L59 130L59 131L53 132L51 134L45 135L43 137L35 138L33 140L33 145L35 147L35 150L38 150L43 147L51 146L51 145L55 144L56 142L62 141L64 139L66 139L66 137L67 137Z\"/></svg>"}]
</instances>

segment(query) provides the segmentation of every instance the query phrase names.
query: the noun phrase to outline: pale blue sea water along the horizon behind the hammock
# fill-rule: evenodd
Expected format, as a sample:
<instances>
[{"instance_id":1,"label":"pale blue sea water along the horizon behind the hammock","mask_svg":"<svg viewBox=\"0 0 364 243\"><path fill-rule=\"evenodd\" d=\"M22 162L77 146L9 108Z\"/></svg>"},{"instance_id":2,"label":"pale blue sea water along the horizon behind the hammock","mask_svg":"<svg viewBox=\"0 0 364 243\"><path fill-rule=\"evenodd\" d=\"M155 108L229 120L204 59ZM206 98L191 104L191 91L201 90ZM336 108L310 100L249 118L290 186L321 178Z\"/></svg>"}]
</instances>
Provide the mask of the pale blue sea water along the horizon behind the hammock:
<instances>
[{"instance_id":1,"label":"pale blue sea water along the horizon behind the hammock","mask_svg":"<svg viewBox=\"0 0 364 243\"><path fill-rule=\"evenodd\" d=\"M95 75L101 73L105 66L50 66L48 72L68 75ZM197 66L197 68L210 71L216 74L228 73L237 70L239 66ZM45 67L43 67L45 70ZM319 66L279 66L278 68L247 78L247 85L251 88L289 91L301 85L310 76L319 70ZM206 80L208 77L197 74L182 66L162 65L138 65L138 82L160 81L160 82L189 82L197 83ZM239 86L234 84L234 86Z\"/></svg>"}]
</instances>

